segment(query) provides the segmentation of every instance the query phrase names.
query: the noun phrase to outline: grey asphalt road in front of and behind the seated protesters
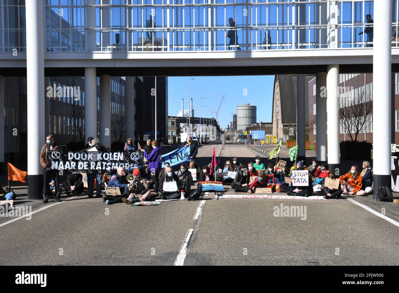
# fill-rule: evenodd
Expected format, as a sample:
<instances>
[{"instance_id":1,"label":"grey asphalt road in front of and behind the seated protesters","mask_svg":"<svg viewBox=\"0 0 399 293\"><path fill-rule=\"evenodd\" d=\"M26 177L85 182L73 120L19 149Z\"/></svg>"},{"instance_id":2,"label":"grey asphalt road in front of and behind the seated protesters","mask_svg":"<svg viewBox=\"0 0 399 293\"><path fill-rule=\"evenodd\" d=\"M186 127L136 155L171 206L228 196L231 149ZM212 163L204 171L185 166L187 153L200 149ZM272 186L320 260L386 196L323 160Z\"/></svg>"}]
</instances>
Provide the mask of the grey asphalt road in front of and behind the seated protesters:
<instances>
[{"instance_id":1,"label":"grey asphalt road in front of and behind the seated protesters","mask_svg":"<svg viewBox=\"0 0 399 293\"><path fill-rule=\"evenodd\" d=\"M213 147L219 156L221 144L203 146L197 165L210 162ZM221 164L255 155L224 145ZM203 201L137 207L85 195L63 200L35 206L31 220L0 219L0 265L173 265L179 254L184 265L399 264L399 227L387 220L399 222L399 205L367 197L217 200L210 193ZM385 208L387 218L354 201ZM281 204L299 206L302 216L275 216Z\"/></svg>"}]
</instances>

